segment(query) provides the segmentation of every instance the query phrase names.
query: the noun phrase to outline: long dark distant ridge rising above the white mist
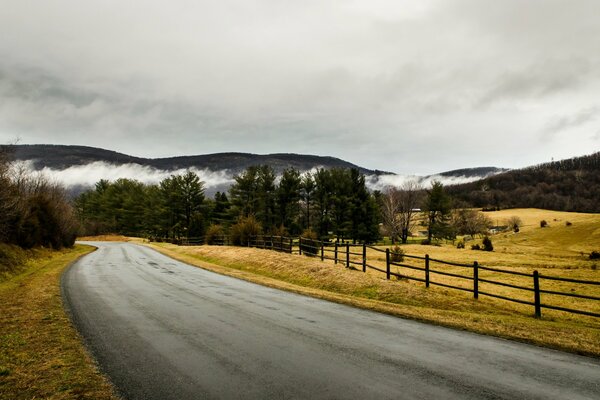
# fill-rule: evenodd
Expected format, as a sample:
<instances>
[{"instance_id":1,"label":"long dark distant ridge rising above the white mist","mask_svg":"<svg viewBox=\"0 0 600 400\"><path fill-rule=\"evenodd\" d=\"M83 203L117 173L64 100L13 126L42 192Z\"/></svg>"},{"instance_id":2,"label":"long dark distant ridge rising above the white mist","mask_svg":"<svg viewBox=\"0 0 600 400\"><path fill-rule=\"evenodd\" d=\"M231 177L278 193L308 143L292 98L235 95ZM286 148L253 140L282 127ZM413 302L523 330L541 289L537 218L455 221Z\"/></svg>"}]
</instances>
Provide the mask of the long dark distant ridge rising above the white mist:
<instances>
[{"instance_id":1,"label":"long dark distant ridge rising above the white mist","mask_svg":"<svg viewBox=\"0 0 600 400\"><path fill-rule=\"evenodd\" d=\"M14 150L14 155L17 160L32 160L36 169L48 167L51 169L64 170L72 166L102 161L110 164L139 164L167 171L193 167L211 171L228 170L231 173L236 174L252 165L267 164L273 167L278 173L288 167L294 167L300 171L307 171L315 167L323 167L357 168L365 175L391 174L391 172L359 167L335 157L291 153L266 155L249 153L216 153L168 158L141 158L87 146L36 144L12 145L8 147Z\"/></svg>"}]
</instances>

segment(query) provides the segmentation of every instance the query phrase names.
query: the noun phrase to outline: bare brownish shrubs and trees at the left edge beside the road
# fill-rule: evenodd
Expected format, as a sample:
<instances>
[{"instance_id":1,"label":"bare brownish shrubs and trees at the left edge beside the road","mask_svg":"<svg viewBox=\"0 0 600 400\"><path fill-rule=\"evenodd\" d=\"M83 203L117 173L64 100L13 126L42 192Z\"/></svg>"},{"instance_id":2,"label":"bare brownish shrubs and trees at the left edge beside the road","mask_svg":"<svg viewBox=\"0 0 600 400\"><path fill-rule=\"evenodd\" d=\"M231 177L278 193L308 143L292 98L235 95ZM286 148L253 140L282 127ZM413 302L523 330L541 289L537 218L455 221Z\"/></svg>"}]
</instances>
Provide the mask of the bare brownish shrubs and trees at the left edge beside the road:
<instances>
[{"instance_id":1,"label":"bare brownish shrubs and trees at the left edge beside the road","mask_svg":"<svg viewBox=\"0 0 600 400\"><path fill-rule=\"evenodd\" d=\"M64 188L17 168L0 146L0 243L60 249L73 245L77 229Z\"/></svg>"}]
</instances>

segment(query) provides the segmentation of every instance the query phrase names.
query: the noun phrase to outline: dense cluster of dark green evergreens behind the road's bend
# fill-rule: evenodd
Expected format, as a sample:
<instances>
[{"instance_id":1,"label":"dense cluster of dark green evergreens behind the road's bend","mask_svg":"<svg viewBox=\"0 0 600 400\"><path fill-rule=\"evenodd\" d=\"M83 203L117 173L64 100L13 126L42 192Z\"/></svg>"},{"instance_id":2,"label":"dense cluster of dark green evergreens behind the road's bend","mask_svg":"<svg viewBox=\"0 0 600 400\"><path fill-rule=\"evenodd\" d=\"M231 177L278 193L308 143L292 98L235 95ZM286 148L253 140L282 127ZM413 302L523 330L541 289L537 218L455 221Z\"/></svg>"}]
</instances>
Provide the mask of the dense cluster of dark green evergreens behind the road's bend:
<instances>
[{"instance_id":1,"label":"dense cluster of dark green evergreens behind the road's bend","mask_svg":"<svg viewBox=\"0 0 600 400\"><path fill-rule=\"evenodd\" d=\"M251 166L214 198L205 196L204 182L192 171L158 184L101 180L74 204L85 234L200 237L252 219L261 233L379 238L377 200L356 169L301 174L288 168L277 178L270 166Z\"/></svg>"}]
</instances>

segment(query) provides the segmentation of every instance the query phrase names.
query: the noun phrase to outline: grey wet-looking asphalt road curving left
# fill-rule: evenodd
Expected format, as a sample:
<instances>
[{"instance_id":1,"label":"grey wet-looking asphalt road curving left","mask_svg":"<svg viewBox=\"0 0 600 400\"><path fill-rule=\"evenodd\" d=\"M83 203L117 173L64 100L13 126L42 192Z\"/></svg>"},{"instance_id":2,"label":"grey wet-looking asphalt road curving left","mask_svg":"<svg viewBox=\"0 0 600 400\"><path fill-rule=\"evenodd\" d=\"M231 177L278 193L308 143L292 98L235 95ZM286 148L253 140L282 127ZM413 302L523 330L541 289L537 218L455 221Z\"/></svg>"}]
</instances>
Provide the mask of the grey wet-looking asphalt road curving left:
<instances>
[{"instance_id":1,"label":"grey wet-looking asphalt road curving left","mask_svg":"<svg viewBox=\"0 0 600 400\"><path fill-rule=\"evenodd\" d=\"M99 249L63 296L126 399L600 399L600 360Z\"/></svg>"}]
</instances>

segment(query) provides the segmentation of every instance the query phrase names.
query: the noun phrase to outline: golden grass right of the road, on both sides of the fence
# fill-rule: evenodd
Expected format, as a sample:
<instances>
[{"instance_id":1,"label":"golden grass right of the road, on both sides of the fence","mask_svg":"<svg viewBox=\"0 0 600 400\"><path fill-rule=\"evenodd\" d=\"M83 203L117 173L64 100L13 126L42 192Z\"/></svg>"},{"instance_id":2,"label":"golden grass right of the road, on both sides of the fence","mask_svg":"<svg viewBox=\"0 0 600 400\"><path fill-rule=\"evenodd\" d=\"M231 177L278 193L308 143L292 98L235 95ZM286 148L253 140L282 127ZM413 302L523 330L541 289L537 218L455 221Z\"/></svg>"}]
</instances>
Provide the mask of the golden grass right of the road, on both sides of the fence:
<instances>
[{"instance_id":1,"label":"golden grass right of the road, on both sides of the fence","mask_svg":"<svg viewBox=\"0 0 600 400\"><path fill-rule=\"evenodd\" d=\"M488 215L498 220L518 215L524 226L517 234L511 232L493 236L493 252L470 250L471 243L467 249L457 249L452 244L404 245L402 248L406 254L429 254L433 258L456 263L471 264L477 260L481 265L510 271L531 273L538 270L550 276L600 280L597 263L587 256L600 247L600 215L544 210L507 210ZM548 221L549 227L540 228L541 219ZM566 221L571 225L567 226ZM388 281L381 272L368 270L365 274L360 270L344 268L341 263L336 265L330 260L321 262L318 257L227 246L153 246L203 268L286 290L474 332L600 356L600 318L596 317L544 309L542 318L536 319L533 318L534 309L529 305L487 296L475 300L471 293L434 286L427 289L424 284L407 279ZM352 256L357 262L361 258ZM370 249L367 259L370 265L385 269L384 253ZM417 265L422 261L406 259L405 263ZM402 267L393 268L394 272L402 275L422 274ZM472 274L470 268L438 266L435 263L432 263L432 268L467 276ZM507 280L495 272L482 271L480 278L532 286L530 278L511 275ZM465 288L472 285L468 281L434 274L431 279L463 285ZM584 289L579 284L543 281L542 288L600 297L599 286ZM532 301L530 292L512 288L482 283L480 290ZM598 301L543 295L542 302L600 312Z\"/></svg>"}]
</instances>

